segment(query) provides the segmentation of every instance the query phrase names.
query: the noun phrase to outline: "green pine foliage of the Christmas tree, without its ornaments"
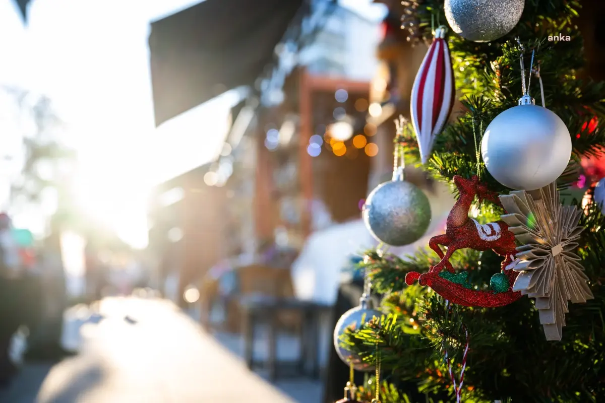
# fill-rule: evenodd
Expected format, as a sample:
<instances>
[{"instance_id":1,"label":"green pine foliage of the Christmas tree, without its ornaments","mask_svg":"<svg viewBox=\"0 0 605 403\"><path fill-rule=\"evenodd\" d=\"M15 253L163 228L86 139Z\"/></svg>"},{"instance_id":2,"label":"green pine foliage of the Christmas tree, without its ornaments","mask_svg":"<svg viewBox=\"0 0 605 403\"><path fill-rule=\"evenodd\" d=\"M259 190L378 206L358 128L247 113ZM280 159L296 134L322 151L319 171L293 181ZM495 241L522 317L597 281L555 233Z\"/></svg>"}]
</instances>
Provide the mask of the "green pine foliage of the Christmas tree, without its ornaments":
<instances>
[{"instance_id":1,"label":"green pine foliage of the Christmas tree, without its ornaments","mask_svg":"<svg viewBox=\"0 0 605 403\"><path fill-rule=\"evenodd\" d=\"M470 178L477 167L488 189L508 193L477 164L476 140L500 112L517 105L522 95L520 51L515 37L525 46L525 65L536 50L546 106L566 124L572 137L572 161L558 180L564 189L578 178L583 156L603 156L605 144L605 83L580 79L583 40L574 27L581 12L574 0L526 0L522 20L506 36L489 44L469 42L454 33L448 42L453 57L456 88L462 108L436 138L427 169L436 179L450 182L454 175ZM431 38L431 14L445 23L443 0L425 0L417 7L417 18L425 39ZM549 34L569 35L571 40L548 42ZM542 99L537 78L532 77L531 95L537 105ZM596 126L590 121L596 118ZM474 127L473 127L474 126ZM473 130L474 129L474 130ZM399 138L407 155L417 162L418 150L411 125ZM577 201L572 201L580 208ZM502 210L492 204L474 205L480 222L496 221ZM578 241L589 286L595 296L583 304L571 304L566 315L563 340L549 343L529 298L502 308L448 306L443 298L419 285L405 285L405 274L425 272L438 262L433 251L413 256L368 251L361 263L377 292L385 294L382 309L389 313L379 321L347 331L342 342L365 361L376 359L381 347L383 376L391 386L397 379L416 382L422 392L450 390L451 381L443 361L442 347L459 370L464 329L471 335L463 399L466 402L597 402L605 398L605 218L595 205L586 210ZM468 280L485 288L497 272L502 257L490 251L457 251L450 259L457 271L467 271ZM386 387L385 387L386 388ZM449 389L448 389L449 388ZM385 389L386 390L386 389ZM397 390L394 388L393 390ZM382 395L381 395L382 396ZM395 396L395 397L393 397ZM404 394L385 402L404 399ZM391 399L391 400L388 400Z\"/></svg>"}]
</instances>

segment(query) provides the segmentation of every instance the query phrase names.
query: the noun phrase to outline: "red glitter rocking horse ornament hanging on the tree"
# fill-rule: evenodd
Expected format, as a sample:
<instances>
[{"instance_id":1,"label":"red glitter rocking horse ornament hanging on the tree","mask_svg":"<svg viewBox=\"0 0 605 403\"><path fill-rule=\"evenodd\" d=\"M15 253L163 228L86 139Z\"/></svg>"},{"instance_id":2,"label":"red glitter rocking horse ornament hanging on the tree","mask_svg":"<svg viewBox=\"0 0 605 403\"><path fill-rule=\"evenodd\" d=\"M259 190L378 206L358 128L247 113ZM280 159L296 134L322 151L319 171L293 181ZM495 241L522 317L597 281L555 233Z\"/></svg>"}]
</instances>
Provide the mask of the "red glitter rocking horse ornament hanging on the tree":
<instances>
[{"instance_id":1,"label":"red glitter rocking horse ornament hanging on the tree","mask_svg":"<svg viewBox=\"0 0 605 403\"><path fill-rule=\"evenodd\" d=\"M462 176L454 176L454 184L458 188L460 196L451 209L447 219L445 234L437 235L428 242L429 247L441 258L437 265L432 266L427 273L408 272L405 276L407 285L412 285L418 280L420 285L427 285L446 300L465 306L496 307L504 306L521 298L520 292L512 291L512 286L518 276L518 272L512 270L518 260L515 260L515 236L508 230L504 221L479 224L468 216L468 211L475 196L482 202L483 199L494 202L502 207L496 193L490 192L485 185L479 183L479 178L464 179ZM439 247L447 247L443 251ZM505 259L502 262L502 274L508 279L508 289L498 291L482 291L473 289L466 283L466 272L453 274L454 268L450 263L450 257L454 251L464 248L472 248L477 251L493 250ZM443 268L448 271L442 272ZM460 281L462 278L462 281ZM505 285L506 287L506 285Z\"/></svg>"}]
</instances>

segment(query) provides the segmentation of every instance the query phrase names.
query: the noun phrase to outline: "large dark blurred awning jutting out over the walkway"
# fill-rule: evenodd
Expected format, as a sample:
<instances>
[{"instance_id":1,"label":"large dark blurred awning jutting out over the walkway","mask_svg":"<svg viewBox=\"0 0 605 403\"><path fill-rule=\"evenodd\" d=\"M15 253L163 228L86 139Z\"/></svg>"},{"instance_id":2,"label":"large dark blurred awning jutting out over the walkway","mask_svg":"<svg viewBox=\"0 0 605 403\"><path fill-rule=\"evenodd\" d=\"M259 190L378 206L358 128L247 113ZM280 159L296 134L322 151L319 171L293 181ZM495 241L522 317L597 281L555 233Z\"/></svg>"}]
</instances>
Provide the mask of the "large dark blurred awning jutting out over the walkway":
<instances>
[{"instance_id":1,"label":"large dark blurred awning jutting out over the walkway","mask_svg":"<svg viewBox=\"0 0 605 403\"><path fill-rule=\"evenodd\" d=\"M302 0L206 0L151 24L158 126L229 89L252 85Z\"/></svg>"}]
</instances>

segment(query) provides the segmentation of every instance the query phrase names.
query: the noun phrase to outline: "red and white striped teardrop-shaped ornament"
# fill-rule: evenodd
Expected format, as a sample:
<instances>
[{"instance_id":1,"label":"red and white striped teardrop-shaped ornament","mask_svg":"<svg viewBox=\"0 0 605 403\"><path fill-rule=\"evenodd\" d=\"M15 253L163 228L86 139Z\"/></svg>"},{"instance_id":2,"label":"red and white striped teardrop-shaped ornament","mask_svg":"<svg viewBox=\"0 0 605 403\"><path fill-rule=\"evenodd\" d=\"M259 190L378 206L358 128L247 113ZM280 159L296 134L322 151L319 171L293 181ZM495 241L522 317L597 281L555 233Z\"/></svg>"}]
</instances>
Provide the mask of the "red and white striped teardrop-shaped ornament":
<instances>
[{"instance_id":1,"label":"red and white striped teardrop-shaped ornament","mask_svg":"<svg viewBox=\"0 0 605 403\"><path fill-rule=\"evenodd\" d=\"M418 69L411 94L411 120L416 131L422 163L427 163L454 106L454 71L444 26L435 30L427 55Z\"/></svg>"}]
</instances>

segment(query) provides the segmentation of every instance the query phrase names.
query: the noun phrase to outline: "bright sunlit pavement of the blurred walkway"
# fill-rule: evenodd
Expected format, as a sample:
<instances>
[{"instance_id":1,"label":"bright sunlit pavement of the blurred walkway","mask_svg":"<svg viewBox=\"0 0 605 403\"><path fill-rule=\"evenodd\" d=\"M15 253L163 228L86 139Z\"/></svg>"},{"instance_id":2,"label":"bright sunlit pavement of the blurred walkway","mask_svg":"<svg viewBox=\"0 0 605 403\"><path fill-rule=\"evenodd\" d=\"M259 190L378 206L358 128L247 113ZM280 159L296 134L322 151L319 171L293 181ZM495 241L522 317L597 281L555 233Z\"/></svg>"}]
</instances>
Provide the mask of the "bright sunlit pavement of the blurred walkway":
<instances>
[{"instance_id":1,"label":"bright sunlit pavement of the blurred walkway","mask_svg":"<svg viewBox=\"0 0 605 403\"><path fill-rule=\"evenodd\" d=\"M110 298L68 317L67 344L81 353L25 366L0 402L294 402L167 301Z\"/></svg>"}]
</instances>

